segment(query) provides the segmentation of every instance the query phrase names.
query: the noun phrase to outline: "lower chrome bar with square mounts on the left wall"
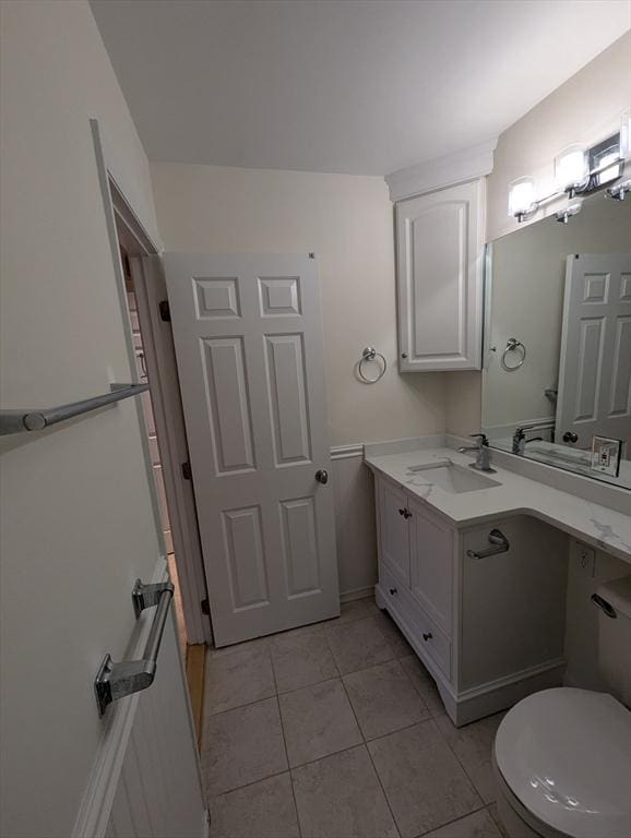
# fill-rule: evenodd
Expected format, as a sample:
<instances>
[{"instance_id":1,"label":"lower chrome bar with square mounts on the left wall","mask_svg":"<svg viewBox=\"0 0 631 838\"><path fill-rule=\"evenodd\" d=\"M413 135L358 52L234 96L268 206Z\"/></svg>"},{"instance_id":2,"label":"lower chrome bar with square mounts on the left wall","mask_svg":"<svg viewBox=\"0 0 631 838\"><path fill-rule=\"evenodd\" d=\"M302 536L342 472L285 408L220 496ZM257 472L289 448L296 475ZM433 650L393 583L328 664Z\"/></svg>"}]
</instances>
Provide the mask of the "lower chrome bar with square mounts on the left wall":
<instances>
[{"instance_id":1,"label":"lower chrome bar with square mounts on the left wall","mask_svg":"<svg viewBox=\"0 0 631 838\"><path fill-rule=\"evenodd\" d=\"M157 606L157 609L140 660L123 660L115 663L109 654L103 659L94 679L94 692L96 693L99 716L104 715L112 702L146 690L153 684L157 656L172 596L174 586L170 582L143 585L140 579L136 579L131 592L136 619L145 608Z\"/></svg>"}]
</instances>

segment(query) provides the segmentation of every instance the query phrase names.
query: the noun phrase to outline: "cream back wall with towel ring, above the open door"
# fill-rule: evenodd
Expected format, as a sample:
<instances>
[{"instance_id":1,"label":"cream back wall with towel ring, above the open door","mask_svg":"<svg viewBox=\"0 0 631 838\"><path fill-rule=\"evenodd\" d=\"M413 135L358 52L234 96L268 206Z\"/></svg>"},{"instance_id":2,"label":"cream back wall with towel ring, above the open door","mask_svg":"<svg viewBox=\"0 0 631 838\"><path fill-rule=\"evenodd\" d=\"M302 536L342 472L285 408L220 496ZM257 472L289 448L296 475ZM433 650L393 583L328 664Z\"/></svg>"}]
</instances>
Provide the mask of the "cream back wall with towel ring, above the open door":
<instances>
[{"instance_id":1,"label":"cream back wall with towel ring, above the open door","mask_svg":"<svg viewBox=\"0 0 631 838\"><path fill-rule=\"evenodd\" d=\"M317 253L331 445L444 430L441 374L396 371L392 204L382 178L151 165L166 250ZM390 369L355 378L365 346Z\"/></svg>"}]
</instances>

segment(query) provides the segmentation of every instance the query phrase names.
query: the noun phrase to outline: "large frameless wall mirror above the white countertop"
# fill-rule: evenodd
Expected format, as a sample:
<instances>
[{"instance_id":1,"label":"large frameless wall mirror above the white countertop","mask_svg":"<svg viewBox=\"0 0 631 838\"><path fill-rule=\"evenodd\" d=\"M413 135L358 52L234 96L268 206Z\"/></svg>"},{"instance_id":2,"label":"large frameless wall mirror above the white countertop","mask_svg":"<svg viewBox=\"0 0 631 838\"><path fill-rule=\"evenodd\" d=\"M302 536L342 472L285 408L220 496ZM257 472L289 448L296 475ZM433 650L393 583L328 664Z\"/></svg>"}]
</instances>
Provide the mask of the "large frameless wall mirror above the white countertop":
<instances>
[{"instance_id":1,"label":"large frameless wall mirror above the white countertop","mask_svg":"<svg viewBox=\"0 0 631 838\"><path fill-rule=\"evenodd\" d=\"M631 489L631 196L488 246L484 357L492 447Z\"/></svg>"}]
</instances>

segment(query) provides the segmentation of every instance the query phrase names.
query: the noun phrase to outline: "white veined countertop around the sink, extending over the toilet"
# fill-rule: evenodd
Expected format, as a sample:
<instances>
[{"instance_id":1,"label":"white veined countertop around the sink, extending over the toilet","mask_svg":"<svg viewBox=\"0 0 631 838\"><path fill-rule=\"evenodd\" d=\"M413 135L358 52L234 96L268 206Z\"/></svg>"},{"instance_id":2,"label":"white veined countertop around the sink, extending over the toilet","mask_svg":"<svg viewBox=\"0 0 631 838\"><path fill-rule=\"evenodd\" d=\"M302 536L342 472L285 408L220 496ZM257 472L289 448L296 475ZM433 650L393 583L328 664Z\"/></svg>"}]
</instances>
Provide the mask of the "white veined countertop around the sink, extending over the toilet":
<instances>
[{"instance_id":1,"label":"white veined countertop around the sink, extending over the toilet","mask_svg":"<svg viewBox=\"0 0 631 838\"><path fill-rule=\"evenodd\" d=\"M366 463L373 471L385 475L406 492L444 515L456 527L497 518L498 515L533 515L631 563L631 495L630 514L623 515L522 477L493 463L491 465L497 468L497 474L489 477L501 486L455 494L433 486L431 470L416 474L408 471L409 466L436 463L437 459L451 459L462 466L472 463L472 457L448 447L392 454L367 452L366 455Z\"/></svg>"}]
</instances>

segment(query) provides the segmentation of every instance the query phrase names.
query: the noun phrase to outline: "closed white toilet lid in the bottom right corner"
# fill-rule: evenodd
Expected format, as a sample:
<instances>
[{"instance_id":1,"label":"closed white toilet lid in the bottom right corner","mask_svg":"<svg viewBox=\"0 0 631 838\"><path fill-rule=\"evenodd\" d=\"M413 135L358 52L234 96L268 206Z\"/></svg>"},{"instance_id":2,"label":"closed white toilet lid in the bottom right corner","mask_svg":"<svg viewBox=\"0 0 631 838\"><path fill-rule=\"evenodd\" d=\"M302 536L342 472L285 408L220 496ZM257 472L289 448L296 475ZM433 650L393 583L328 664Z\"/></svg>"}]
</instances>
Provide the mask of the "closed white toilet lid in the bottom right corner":
<instances>
[{"instance_id":1,"label":"closed white toilet lid in the bottom right corner","mask_svg":"<svg viewBox=\"0 0 631 838\"><path fill-rule=\"evenodd\" d=\"M515 797L575 838L631 836L631 713L612 696L544 690L503 718L496 761Z\"/></svg>"}]
</instances>

